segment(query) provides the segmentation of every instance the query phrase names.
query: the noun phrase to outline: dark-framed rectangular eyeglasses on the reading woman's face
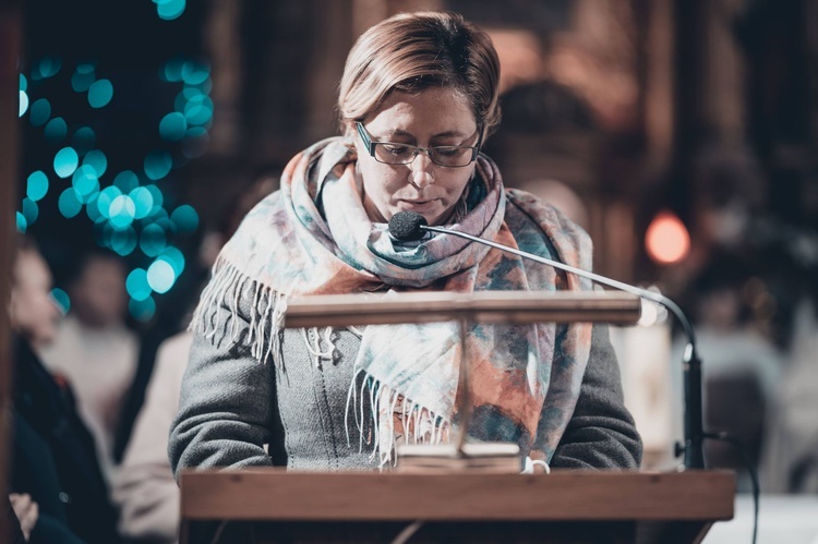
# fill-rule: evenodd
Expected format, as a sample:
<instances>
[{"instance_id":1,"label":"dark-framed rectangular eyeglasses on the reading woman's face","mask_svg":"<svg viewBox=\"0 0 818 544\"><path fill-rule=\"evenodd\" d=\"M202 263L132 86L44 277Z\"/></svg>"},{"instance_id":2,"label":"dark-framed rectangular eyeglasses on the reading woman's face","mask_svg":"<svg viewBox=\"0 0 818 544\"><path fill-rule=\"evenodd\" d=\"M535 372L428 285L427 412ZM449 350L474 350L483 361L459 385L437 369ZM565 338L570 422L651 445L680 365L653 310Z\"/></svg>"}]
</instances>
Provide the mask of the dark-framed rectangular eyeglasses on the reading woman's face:
<instances>
[{"instance_id":1,"label":"dark-framed rectangular eyeglasses on the reading woman's face","mask_svg":"<svg viewBox=\"0 0 818 544\"><path fill-rule=\"evenodd\" d=\"M483 138L483 131L478 128L480 136L476 146L435 145L432 147L418 147L417 145L398 144L395 142L373 142L370 133L363 128L363 123L357 122L356 126L370 156L384 165L409 165L422 152L437 166L461 168L469 166L477 158Z\"/></svg>"}]
</instances>

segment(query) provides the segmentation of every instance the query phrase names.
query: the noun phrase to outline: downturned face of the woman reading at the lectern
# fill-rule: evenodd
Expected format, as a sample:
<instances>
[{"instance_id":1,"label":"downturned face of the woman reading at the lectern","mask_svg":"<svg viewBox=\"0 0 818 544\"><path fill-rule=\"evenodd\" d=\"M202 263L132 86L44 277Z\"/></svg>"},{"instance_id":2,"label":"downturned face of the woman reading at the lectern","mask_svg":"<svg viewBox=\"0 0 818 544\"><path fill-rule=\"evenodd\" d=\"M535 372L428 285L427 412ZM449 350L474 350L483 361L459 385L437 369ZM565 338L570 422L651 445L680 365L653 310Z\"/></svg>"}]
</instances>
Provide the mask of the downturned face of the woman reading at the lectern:
<instances>
[{"instance_id":1,"label":"downturned face of the woman reading at the lectern","mask_svg":"<svg viewBox=\"0 0 818 544\"><path fill-rule=\"evenodd\" d=\"M446 87L417 95L394 92L363 120L373 142L419 147L474 146L478 123L468 100ZM430 225L442 225L452 215L471 179L476 162L460 168L435 165L419 153L409 165L384 165L371 157L357 131L358 171L363 206L370 219L388 221L398 211L416 211Z\"/></svg>"}]
</instances>

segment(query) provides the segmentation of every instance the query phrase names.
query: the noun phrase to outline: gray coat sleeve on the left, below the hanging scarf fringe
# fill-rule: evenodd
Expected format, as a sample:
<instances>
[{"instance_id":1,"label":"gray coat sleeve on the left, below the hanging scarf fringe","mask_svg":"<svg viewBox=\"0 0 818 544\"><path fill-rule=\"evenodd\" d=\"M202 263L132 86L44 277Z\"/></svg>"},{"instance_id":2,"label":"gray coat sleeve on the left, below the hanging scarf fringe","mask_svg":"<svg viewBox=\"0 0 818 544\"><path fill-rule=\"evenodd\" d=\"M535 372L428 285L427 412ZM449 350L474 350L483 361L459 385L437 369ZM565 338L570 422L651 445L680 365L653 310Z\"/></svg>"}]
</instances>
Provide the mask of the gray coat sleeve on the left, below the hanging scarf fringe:
<instances>
[{"instance_id":1,"label":"gray coat sleeve on the left, below the hanging scarf fringe","mask_svg":"<svg viewBox=\"0 0 818 544\"><path fill-rule=\"evenodd\" d=\"M269 440L275 368L251 353L249 306L244 297L238 312L224 302L214 304L203 317L216 329L193 334L168 442L177 480L183 469L273 464L264 444Z\"/></svg>"}]
</instances>

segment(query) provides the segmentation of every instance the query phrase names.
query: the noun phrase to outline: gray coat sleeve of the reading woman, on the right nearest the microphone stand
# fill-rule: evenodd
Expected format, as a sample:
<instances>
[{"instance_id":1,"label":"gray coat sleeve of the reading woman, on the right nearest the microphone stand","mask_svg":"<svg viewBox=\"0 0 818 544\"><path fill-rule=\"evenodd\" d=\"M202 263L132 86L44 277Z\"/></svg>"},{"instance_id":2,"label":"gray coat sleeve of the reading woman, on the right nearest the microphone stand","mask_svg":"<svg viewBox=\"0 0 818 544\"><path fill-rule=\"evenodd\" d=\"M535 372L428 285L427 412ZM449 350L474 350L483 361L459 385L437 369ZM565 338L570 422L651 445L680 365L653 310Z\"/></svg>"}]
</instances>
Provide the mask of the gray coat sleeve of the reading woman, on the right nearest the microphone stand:
<instances>
[{"instance_id":1,"label":"gray coat sleeve of the reading woman, on the right nearest the microphone stand","mask_svg":"<svg viewBox=\"0 0 818 544\"><path fill-rule=\"evenodd\" d=\"M560 469L637 469L642 443L625 408L606 325L594 325L574 415L551 460Z\"/></svg>"}]
</instances>

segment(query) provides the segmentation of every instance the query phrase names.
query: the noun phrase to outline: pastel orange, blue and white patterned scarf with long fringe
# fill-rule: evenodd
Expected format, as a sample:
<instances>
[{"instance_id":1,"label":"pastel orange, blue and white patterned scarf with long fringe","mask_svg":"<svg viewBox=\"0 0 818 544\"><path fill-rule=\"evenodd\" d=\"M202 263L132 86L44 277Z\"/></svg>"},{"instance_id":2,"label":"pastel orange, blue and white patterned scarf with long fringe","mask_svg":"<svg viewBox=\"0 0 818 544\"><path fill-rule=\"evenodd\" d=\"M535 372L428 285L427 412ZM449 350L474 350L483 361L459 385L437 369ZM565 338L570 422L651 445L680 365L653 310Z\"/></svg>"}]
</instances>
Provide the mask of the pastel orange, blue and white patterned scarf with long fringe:
<instances>
[{"instance_id":1,"label":"pastel orange, blue and white patterned scarf with long fringe","mask_svg":"<svg viewBox=\"0 0 818 544\"><path fill-rule=\"evenodd\" d=\"M214 336L207 309L231 309L234 342L241 297L250 297L252 353L279 368L286 298L350 292L431 290L590 289L574 275L448 234L401 245L384 223L373 223L361 202L356 155L340 138L318 142L296 156L281 189L262 201L222 249L191 328ZM587 234L554 208L519 191L505 191L494 162L478 159L474 186L483 196L455 225L473 235L590 269ZM580 283L582 281L582 283ZM228 328L229 330L230 328ZM350 328L351 329L351 328ZM305 330L316 363L334 355L332 330ZM591 325L471 324L470 439L516 442L534 459L550 461L576 406L590 350ZM457 425L460 342L454 323L369 326L350 376L350 402L360 430L369 398L373 455L389 460L395 440L438 443ZM362 373L364 379L359 380ZM359 390L359 385L363 384ZM349 426L349 425L348 425ZM361 433L363 439L364 433Z\"/></svg>"}]
</instances>

